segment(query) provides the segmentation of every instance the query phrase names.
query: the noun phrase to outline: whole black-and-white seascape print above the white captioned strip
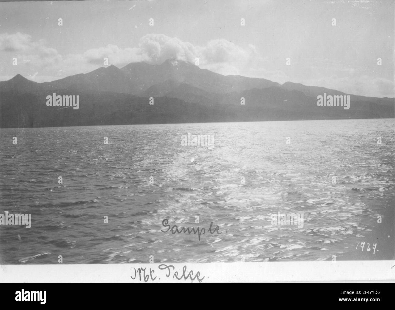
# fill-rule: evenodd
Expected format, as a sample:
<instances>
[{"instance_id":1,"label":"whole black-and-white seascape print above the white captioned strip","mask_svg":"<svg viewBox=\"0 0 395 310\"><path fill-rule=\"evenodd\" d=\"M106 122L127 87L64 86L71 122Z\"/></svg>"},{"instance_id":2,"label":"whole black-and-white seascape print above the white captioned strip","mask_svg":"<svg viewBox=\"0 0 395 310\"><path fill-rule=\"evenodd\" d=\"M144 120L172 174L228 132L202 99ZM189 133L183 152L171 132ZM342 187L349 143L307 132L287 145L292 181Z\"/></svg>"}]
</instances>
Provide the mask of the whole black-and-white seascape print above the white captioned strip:
<instances>
[{"instance_id":1,"label":"whole black-and-white seascape print above the white captioned strip","mask_svg":"<svg viewBox=\"0 0 395 310\"><path fill-rule=\"evenodd\" d=\"M0 265L395 265L394 9L1 2Z\"/></svg>"}]
</instances>

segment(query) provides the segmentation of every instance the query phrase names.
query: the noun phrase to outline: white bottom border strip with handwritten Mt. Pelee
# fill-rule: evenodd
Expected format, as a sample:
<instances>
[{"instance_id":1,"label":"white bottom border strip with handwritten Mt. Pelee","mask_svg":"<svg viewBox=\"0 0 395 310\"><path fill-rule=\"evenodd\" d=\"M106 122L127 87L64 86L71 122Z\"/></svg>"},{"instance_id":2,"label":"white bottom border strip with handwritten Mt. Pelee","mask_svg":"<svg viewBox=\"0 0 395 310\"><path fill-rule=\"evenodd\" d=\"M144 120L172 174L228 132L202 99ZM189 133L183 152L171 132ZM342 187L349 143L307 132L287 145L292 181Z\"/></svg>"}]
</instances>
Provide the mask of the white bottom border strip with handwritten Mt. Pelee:
<instances>
[{"instance_id":1,"label":"white bottom border strip with handwritten Mt. Pelee","mask_svg":"<svg viewBox=\"0 0 395 310\"><path fill-rule=\"evenodd\" d=\"M395 261L290 261L262 263L146 263L146 264L81 264L68 265L2 265L0 282L6 283L133 283L142 282L134 268L154 270L153 282L189 282L173 279L173 273L158 269L160 264L173 265L178 276L184 265L187 272L200 272L202 282L319 282L395 280ZM391 268L393 267L393 268ZM160 280L159 280L160 278ZM149 280L148 282L152 282ZM195 280L193 282L198 282ZM361 287L361 290L363 287Z\"/></svg>"}]
</instances>

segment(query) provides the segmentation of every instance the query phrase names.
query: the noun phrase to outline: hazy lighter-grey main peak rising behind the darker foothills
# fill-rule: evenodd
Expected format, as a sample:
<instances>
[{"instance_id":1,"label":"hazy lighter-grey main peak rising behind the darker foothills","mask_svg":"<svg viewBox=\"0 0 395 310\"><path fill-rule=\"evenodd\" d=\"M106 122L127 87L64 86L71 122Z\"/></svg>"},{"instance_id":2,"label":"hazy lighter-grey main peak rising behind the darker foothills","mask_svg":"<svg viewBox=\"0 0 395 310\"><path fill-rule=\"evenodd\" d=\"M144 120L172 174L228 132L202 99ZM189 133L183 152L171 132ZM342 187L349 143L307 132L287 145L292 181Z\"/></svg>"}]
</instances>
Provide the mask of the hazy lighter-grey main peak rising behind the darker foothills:
<instances>
[{"instance_id":1,"label":"hazy lighter-grey main peak rising behind the darker foothills","mask_svg":"<svg viewBox=\"0 0 395 310\"><path fill-rule=\"evenodd\" d=\"M190 62L171 58L160 65L137 62L128 64L121 69L111 65L106 68L98 68L89 73L71 75L52 82L35 83L30 81L35 83L35 85L25 88L25 90L51 91L73 87L81 91L95 90L142 95L151 86L168 80L194 86L205 92L216 92L219 94L234 91L240 92L251 88L279 86L278 83L265 79L239 75L224 76L209 70L200 69ZM0 82L0 91L9 89L9 85L3 85L3 82Z\"/></svg>"}]
</instances>

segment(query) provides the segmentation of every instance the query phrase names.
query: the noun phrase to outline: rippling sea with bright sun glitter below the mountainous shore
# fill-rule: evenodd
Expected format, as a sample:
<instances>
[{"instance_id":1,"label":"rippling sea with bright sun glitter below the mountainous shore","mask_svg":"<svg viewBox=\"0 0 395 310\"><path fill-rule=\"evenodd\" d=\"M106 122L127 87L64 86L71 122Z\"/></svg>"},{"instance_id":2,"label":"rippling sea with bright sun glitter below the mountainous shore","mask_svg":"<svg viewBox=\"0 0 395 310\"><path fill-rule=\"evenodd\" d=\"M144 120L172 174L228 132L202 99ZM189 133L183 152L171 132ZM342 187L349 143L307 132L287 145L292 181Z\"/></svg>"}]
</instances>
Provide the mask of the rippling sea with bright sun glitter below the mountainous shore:
<instances>
[{"instance_id":1,"label":"rippling sea with bright sun glitter below the mountainous shore","mask_svg":"<svg viewBox=\"0 0 395 310\"><path fill-rule=\"evenodd\" d=\"M0 213L32 214L31 228L0 225L0 263L393 259L394 125L0 129ZM188 133L213 147L181 145ZM273 224L278 212L303 227ZM165 219L205 233L162 232Z\"/></svg>"}]
</instances>

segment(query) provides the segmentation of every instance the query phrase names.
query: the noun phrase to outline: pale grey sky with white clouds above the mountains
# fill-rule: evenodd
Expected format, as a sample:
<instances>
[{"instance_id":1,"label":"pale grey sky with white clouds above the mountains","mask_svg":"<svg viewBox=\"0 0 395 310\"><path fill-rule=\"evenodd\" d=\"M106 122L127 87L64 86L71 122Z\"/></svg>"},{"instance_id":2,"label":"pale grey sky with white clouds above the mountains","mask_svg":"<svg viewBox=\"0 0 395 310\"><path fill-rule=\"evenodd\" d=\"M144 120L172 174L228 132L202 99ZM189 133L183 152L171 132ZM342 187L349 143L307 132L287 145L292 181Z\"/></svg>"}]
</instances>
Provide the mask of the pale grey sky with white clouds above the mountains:
<instances>
[{"instance_id":1,"label":"pale grey sky with white clouds above the mountains","mask_svg":"<svg viewBox=\"0 0 395 310\"><path fill-rule=\"evenodd\" d=\"M122 68L177 57L224 75L394 97L394 3L1 2L0 81L53 81L104 66L104 58Z\"/></svg>"}]
</instances>

